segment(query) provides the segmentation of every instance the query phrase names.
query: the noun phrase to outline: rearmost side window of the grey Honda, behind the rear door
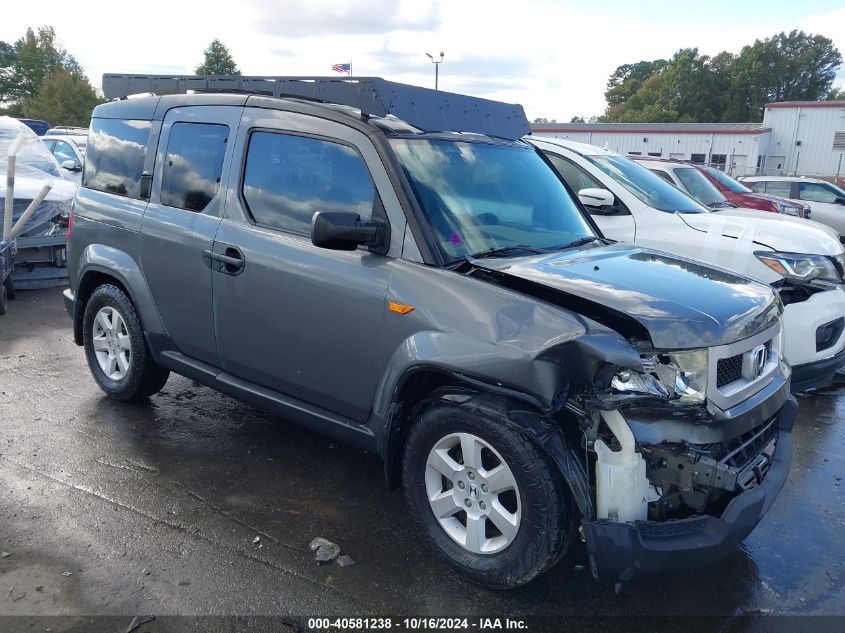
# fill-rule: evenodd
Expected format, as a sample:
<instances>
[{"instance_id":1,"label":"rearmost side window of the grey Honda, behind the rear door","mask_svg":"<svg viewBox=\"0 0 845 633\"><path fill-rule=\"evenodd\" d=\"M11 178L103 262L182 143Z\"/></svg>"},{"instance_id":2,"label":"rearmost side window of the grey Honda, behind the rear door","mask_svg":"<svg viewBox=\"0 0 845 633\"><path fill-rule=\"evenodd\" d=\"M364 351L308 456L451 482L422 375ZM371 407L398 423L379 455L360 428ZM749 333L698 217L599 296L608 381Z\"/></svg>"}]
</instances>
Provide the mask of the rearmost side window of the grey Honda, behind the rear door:
<instances>
[{"instance_id":1,"label":"rearmost side window of the grey Honda, behind the rear door","mask_svg":"<svg viewBox=\"0 0 845 633\"><path fill-rule=\"evenodd\" d=\"M150 121L91 119L82 186L140 198Z\"/></svg>"}]
</instances>

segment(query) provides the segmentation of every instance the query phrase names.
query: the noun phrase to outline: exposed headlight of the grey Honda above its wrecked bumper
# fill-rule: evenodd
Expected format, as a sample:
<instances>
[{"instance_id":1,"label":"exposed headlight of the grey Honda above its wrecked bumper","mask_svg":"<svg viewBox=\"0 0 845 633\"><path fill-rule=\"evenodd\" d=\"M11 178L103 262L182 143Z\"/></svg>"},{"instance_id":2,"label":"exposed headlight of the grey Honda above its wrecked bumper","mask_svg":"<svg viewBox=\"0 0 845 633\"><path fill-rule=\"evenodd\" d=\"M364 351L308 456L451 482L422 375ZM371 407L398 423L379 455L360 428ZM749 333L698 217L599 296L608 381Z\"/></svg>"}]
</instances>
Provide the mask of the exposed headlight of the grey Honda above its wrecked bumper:
<instances>
[{"instance_id":1,"label":"exposed headlight of the grey Honda above its wrecked bumper","mask_svg":"<svg viewBox=\"0 0 845 633\"><path fill-rule=\"evenodd\" d=\"M702 404L707 400L707 350L643 356L643 372L620 371L610 386L622 393L639 393Z\"/></svg>"}]
</instances>

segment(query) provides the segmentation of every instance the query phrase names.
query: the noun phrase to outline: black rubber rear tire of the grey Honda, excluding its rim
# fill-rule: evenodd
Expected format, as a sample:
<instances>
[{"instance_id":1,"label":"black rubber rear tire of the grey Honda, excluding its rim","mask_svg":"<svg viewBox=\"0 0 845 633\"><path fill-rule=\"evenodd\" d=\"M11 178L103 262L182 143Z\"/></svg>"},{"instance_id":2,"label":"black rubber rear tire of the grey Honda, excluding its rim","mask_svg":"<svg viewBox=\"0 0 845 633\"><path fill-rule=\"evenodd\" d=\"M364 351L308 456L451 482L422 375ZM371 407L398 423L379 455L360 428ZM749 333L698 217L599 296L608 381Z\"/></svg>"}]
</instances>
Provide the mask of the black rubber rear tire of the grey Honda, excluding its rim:
<instances>
[{"instance_id":1,"label":"black rubber rear tire of the grey Honda, excluding its rim","mask_svg":"<svg viewBox=\"0 0 845 633\"><path fill-rule=\"evenodd\" d=\"M126 375L120 380L112 380L100 367L94 353L93 327L97 313L104 307L112 308L120 314L126 324L131 345L131 359ZM85 347L85 358L94 380L106 395L115 400L143 400L161 391L170 372L159 367L144 340L141 321L135 312L132 301L120 288L111 284L99 286L85 304L85 314L82 320L82 337Z\"/></svg>"}]
</instances>

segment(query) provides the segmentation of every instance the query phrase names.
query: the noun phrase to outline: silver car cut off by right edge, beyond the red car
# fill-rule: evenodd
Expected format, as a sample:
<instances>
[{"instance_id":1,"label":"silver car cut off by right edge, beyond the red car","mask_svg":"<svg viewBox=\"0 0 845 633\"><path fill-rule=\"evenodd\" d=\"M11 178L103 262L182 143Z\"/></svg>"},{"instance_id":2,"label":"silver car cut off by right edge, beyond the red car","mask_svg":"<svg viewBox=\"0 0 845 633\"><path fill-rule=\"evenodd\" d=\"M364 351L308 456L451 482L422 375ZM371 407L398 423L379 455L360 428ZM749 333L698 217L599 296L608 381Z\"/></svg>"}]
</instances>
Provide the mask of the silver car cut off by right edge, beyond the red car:
<instances>
[{"instance_id":1,"label":"silver car cut off by right edge, beyond the red car","mask_svg":"<svg viewBox=\"0 0 845 633\"><path fill-rule=\"evenodd\" d=\"M833 183L796 176L747 176L742 179L757 193L767 193L810 205L813 219L845 239L845 191Z\"/></svg>"}]
</instances>

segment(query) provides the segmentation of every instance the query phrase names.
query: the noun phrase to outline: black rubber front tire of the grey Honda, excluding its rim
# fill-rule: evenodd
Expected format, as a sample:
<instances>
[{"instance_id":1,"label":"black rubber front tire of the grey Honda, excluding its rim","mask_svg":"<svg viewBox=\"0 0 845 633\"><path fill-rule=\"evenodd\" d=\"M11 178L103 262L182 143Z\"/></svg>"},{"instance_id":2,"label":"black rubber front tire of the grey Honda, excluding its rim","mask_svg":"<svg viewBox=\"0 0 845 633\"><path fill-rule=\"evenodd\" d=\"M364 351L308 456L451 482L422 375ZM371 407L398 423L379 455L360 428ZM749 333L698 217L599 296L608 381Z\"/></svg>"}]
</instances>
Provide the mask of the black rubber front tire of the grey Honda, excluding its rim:
<instances>
[{"instance_id":1,"label":"black rubber front tire of the grey Honda, excluding its rim","mask_svg":"<svg viewBox=\"0 0 845 633\"><path fill-rule=\"evenodd\" d=\"M446 533L429 504L425 483L428 455L442 438L454 433L475 435L493 447L519 488L522 518L518 531L510 544L496 553L465 549ZM405 501L423 539L447 565L480 585L493 589L523 585L557 563L572 542L574 504L557 468L528 437L476 409L446 401L424 409L405 444L402 479Z\"/></svg>"}]
</instances>

